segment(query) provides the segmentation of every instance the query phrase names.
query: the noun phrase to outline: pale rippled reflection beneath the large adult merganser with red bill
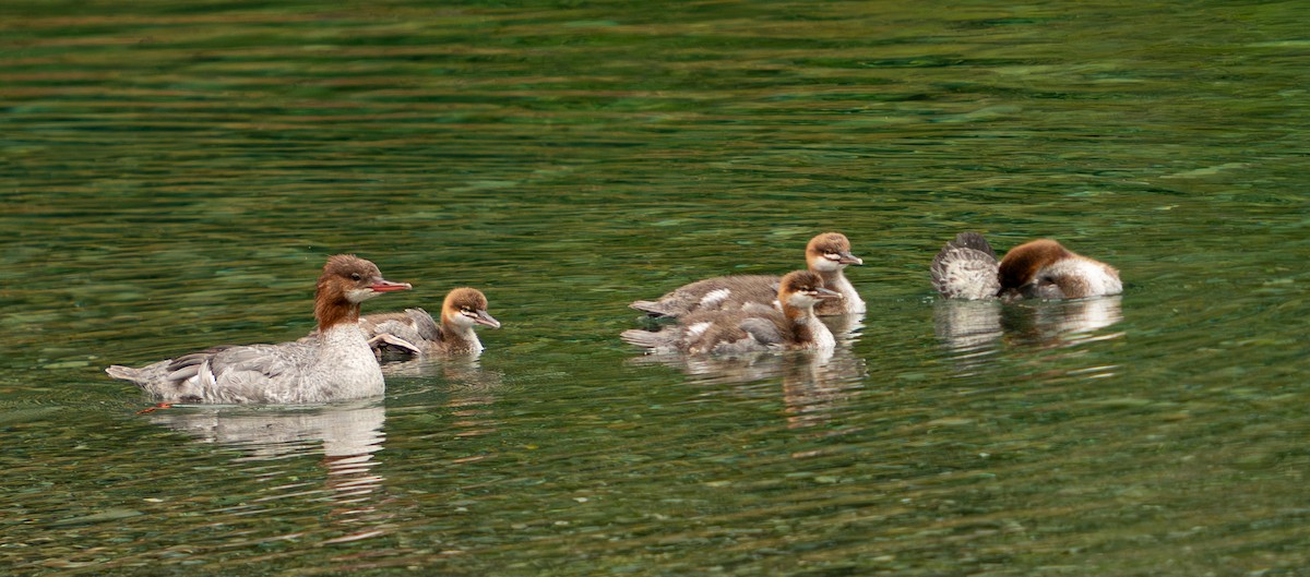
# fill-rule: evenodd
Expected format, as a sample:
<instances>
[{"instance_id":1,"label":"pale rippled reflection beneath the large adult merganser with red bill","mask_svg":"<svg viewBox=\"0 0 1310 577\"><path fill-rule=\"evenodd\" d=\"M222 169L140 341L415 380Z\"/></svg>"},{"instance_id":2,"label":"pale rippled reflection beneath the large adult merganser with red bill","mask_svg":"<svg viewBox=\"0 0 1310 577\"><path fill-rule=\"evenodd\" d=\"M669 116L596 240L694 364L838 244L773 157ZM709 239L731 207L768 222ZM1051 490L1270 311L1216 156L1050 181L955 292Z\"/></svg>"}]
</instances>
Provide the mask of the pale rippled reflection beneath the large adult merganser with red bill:
<instances>
[{"instance_id":1,"label":"pale rippled reflection beneath the large adult merganser with red bill","mask_svg":"<svg viewBox=\"0 0 1310 577\"><path fill-rule=\"evenodd\" d=\"M324 491L308 491L301 484L261 485L257 491L279 492L250 500L241 516L258 517L259 510L275 510L284 498L309 496L334 504L330 514L342 535L322 543L345 543L388 533L389 514L380 510L385 502L385 479L372 471L377 464L373 453L383 447L383 407L368 403L314 407L173 407L149 413L151 423L189 434L200 442L241 450L234 463L265 463L296 454L321 453L326 470ZM259 466L259 475L282 475L286 471ZM267 505L265 505L267 504Z\"/></svg>"}]
</instances>

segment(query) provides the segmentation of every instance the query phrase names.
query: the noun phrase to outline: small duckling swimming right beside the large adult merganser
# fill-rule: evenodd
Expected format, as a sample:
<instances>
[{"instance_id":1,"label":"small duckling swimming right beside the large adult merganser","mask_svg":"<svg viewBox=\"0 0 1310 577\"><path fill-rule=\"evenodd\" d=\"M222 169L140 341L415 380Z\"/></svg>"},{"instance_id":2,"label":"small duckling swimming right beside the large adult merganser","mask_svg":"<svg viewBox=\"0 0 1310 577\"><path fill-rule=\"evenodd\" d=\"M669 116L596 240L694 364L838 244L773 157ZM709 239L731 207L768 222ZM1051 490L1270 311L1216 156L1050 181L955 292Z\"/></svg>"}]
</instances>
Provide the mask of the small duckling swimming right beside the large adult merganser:
<instances>
[{"instance_id":1,"label":"small duckling swimming right beside the large adult merganser","mask_svg":"<svg viewBox=\"0 0 1310 577\"><path fill-rule=\"evenodd\" d=\"M473 330L478 324L500 328L500 322L487 313L487 297L468 287L445 296L440 324L423 309L369 314L359 319L359 327L364 330L379 358L477 355L482 352L482 341Z\"/></svg>"}]
</instances>

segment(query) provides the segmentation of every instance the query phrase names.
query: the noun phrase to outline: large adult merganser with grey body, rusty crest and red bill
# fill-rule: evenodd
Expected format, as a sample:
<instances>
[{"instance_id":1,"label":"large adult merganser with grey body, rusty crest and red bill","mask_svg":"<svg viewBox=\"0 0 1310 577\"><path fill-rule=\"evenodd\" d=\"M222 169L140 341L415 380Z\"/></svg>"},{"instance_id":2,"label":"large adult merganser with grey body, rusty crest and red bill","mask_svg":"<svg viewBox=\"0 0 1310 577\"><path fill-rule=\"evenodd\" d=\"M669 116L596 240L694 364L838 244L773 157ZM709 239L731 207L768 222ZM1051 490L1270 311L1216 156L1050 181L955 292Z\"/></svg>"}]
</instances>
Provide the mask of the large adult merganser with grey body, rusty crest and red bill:
<instances>
[{"instance_id":1,"label":"large adult merganser with grey body, rusty crest and red bill","mask_svg":"<svg viewBox=\"0 0 1310 577\"><path fill-rule=\"evenodd\" d=\"M383 370L359 328L362 302L409 289L383 279L354 255L328 259L314 290L318 332L293 343L215 347L140 369L114 365L110 377L135 382L172 403L321 403L383 394Z\"/></svg>"}]
</instances>

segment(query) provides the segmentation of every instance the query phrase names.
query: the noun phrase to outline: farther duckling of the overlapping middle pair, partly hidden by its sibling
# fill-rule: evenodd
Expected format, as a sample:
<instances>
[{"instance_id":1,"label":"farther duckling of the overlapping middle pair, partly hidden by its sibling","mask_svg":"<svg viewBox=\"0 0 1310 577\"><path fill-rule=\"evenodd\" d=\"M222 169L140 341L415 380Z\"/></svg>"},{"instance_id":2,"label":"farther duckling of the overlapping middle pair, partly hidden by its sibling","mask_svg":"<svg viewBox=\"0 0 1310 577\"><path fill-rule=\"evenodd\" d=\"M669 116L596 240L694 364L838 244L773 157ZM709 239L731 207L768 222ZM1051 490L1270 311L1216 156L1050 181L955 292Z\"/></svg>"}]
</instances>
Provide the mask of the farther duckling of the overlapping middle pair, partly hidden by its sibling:
<instances>
[{"instance_id":1,"label":"farther duckling of the overlapping middle pair, partly hidden by its sibling","mask_svg":"<svg viewBox=\"0 0 1310 577\"><path fill-rule=\"evenodd\" d=\"M865 301L842 273L849 264L865 262L850 254L850 241L845 234L823 233L806 245L806 266L823 277L824 288L841 294L841 298L824 300L815 307L815 314L865 311ZM747 302L770 305L778 293L778 279L773 275L718 276L676 288L658 301L637 301L629 306L650 317L677 318L702 310L735 310Z\"/></svg>"}]
</instances>

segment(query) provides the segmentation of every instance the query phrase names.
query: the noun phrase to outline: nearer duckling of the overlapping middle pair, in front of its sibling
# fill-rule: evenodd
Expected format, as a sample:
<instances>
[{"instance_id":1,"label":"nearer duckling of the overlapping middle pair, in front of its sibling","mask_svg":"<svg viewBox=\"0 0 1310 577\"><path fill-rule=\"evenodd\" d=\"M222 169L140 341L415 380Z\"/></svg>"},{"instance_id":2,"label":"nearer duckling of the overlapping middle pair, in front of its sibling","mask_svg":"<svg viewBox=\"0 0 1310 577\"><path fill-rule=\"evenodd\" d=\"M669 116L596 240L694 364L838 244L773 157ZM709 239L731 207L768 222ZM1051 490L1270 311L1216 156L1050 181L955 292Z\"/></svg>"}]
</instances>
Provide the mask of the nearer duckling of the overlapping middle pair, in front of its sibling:
<instances>
[{"instance_id":1,"label":"nearer duckling of the overlapping middle pair, in front of its sibling","mask_svg":"<svg viewBox=\"0 0 1310 577\"><path fill-rule=\"evenodd\" d=\"M811 271L795 271L778 285L782 310L749 302L738 310L707 310L679 318L658 332L633 328L620 338L651 353L732 355L753 351L832 351L832 331L815 317L815 305L841 298Z\"/></svg>"}]
</instances>

